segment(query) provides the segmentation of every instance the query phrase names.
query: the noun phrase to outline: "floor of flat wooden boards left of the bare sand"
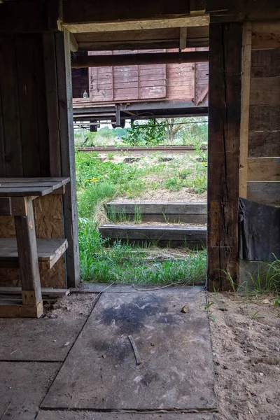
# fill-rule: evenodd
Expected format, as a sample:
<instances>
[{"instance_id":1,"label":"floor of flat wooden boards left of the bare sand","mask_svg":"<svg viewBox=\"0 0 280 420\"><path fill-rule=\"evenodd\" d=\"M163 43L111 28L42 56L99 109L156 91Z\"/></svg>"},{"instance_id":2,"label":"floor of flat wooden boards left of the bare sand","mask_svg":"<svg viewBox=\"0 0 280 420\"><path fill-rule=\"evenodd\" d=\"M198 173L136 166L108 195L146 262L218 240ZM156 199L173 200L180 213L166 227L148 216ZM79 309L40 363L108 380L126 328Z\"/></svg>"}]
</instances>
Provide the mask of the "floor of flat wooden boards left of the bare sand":
<instances>
[{"instance_id":1,"label":"floor of flat wooden boards left of the bare sand","mask_svg":"<svg viewBox=\"0 0 280 420\"><path fill-rule=\"evenodd\" d=\"M82 291L47 318L0 319L1 420L214 419L203 290Z\"/></svg>"}]
</instances>

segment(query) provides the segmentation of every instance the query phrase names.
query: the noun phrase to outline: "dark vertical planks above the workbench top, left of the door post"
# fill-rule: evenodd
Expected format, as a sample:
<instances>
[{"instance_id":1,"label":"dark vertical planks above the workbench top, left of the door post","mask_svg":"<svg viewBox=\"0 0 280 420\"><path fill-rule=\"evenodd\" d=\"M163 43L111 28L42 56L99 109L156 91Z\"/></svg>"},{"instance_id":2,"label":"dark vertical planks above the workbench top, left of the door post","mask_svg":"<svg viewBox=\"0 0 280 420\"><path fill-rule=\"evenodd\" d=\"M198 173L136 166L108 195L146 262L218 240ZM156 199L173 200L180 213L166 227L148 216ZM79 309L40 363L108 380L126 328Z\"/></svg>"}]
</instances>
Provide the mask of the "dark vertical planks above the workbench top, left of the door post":
<instances>
[{"instance_id":1,"label":"dark vertical planks above the workbench top, left of the door post","mask_svg":"<svg viewBox=\"0 0 280 420\"><path fill-rule=\"evenodd\" d=\"M42 36L0 37L0 176L50 176Z\"/></svg>"}]
</instances>

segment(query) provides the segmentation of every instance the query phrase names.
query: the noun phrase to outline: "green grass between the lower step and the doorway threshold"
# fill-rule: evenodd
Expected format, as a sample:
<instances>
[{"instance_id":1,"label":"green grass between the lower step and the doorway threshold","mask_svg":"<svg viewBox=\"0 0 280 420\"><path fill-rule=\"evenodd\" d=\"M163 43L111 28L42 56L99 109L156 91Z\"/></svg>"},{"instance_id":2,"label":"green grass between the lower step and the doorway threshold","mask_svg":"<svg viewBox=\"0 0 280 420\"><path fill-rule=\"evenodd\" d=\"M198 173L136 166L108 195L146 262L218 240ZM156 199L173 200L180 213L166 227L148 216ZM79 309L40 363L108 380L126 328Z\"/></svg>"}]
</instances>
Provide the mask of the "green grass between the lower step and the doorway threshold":
<instances>
[{"instance_id":1,"label":"green grass between the lower step and the doorway threshold","mask_svg":"<svg viewBox=\"0 0 280 420\"><path fill-rule=\"evenodd\" d=\"M80 269L84 281L190 285L205 283L205 251L189 251L186 260L147 262L143 249L120 244L118 241L110 246L99 237L92 222L82 219L79 223ZM147 255L148 251L147 248Z\"/></svg>"}]
</instances>

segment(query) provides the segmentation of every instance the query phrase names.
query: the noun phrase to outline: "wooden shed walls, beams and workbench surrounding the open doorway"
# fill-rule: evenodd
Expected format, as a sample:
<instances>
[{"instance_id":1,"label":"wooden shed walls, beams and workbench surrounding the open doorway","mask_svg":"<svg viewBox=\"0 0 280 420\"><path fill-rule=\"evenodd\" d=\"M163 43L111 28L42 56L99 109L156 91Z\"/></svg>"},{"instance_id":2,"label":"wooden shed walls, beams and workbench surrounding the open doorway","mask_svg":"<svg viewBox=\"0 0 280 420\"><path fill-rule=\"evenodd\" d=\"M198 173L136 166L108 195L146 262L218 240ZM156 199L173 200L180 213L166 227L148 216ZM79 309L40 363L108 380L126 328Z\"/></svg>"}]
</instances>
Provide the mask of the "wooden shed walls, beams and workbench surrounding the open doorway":
<instances>
[{"instance_id":1,"label":"wooden shed walls, beams and workbench surrounding the open doorway","mask_svg":"<svg viewBox=\"0 0 280 420\"><path fill-rule=\"evenodd\" d=\"M225 272L239 282L239 197L272 215L280 206L279 1L0 1L0 286L21 284L23 301L0 305L0 316L40 316L40 279L53 288L80 282L71 52L205 47L207 286L228 290ZM180 60L165 52L173 53ZM260 211L253 231L267 230L268 218ZM48 239L45 259L35 237ZM263 244L267 257L279 257L279 239Z\"/></svg>"}]
</instances>

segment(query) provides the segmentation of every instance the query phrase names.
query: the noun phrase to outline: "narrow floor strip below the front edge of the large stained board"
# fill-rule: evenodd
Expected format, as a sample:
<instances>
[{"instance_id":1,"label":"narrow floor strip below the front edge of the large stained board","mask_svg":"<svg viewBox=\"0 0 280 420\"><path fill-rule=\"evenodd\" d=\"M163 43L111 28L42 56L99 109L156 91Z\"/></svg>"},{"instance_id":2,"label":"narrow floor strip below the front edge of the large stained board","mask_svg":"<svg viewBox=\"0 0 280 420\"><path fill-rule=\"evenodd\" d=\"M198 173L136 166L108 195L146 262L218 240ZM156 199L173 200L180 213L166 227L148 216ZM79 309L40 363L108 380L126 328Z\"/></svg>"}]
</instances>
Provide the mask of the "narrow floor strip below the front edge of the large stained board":
<instances>
[{"instance_id":1,"label":"narrow floor strip below the front edge of the large stained board","mask_svg":"<svg viewBox=\"0 0 280 420\"><path fill-rule=\"evenodd\" d=\"M92 417L94 416L94 417ZM36 420L214 420L213 414L196 413L102 413L41 410Z\"/></svg>"}]
</instances>

